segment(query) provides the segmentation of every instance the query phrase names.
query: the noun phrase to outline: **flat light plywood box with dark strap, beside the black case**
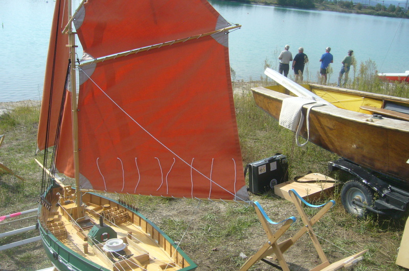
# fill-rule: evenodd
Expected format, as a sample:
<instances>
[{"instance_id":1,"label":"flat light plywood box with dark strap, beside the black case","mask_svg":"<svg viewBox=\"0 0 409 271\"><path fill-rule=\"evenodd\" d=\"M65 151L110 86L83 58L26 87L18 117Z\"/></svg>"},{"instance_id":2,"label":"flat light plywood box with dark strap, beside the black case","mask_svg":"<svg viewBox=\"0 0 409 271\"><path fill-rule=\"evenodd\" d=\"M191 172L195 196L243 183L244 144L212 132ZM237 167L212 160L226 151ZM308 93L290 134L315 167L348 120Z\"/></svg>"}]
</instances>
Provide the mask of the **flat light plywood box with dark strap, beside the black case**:
<instances>
[{"instance_id":1,"label":"flat light plywood box with dark strap, beside the black case","mask_svg":"<svg viewBox=\"0 0 409 271\"><path fill-rule=\"evenodd\" d=\"M304 200L314 201L320 199L323 194L331 192L336 185L335 182L335 179L328 176L311 173L299 178L297 182L290 181L275 185L274 193L291 201L288 191L294 189Z\"/></svg>"}]
</instances>

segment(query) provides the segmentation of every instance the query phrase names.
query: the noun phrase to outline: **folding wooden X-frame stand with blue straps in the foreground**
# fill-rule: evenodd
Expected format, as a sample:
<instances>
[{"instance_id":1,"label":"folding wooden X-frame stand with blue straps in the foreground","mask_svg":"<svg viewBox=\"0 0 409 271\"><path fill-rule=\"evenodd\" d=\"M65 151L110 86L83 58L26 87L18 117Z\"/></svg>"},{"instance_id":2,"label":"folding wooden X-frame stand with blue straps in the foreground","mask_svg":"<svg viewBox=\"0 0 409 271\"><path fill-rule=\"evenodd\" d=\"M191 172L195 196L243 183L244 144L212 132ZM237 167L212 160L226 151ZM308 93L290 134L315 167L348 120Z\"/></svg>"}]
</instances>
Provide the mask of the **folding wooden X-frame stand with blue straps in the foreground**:
<instances>
[{"instance_id":1,"label":"folding wooden X-frame stand with blue straps in the foreground","mask_svg":"<svg viewBox=\"0 0 409 271\"><path fill-rule=\"evenodd\" d=\"M296 205L297 211L301 216L301 219L304 223L304 227L301 228L294 236L292 236L291 238L288 238L280 243L277 243L277 239L283 234L281 233L277 239L274 239L274 242L270 241L270 237L269 237L269 233L268 231L266 231L265 229L265 223L264 221L262 221L262 219L260 219L261 224L263 225L264 230L267 232L267 237L268 237L268 242L266 244L263 245L262 249L259 250L259 252L257 252L254 256L252 256L251 258L249 258L244 265L242 266L242 268L240 269L241 271L247 270L249 267L251 267L254 263L256 263L259 260L263 260L275 267L277 267L278 269L284 270L284 271L289 271L289 267L287 262L285 261L284 257L283 257L283 253L288 250L291 245L293 245L298 239L300 239L300 237L308 232L312 243L315 247L316 252L318 253L322 263L317 265L316 267L312 268L310 271L330 271L330 270L337 270L343 267L349 267L354 265L356 262L360 261L362 259L362 254L366 253L368 250L364 250L361 251L359 253L356 253L352 256L349 256L345 259L339 260L337 262L334 262L332 264L330 264L330 262L328 261L327 257L325 256L325 253L321 247L320 242L318 241L314 230L312 229L312 226L314 226L314 224L326 213L328 212L329 209L331 209L334 205L335 205L335 201L331 200L325 204L322 205L311 205L308 202L306 202L303 198L301 198L301 196L297 193L296 190L291 189L288 191L288 193L290 194L291 200L294 203L294 205ZM323 207L319 212L317 212L311 219L308 218L308 216L306 215L303 207L302 207L302 203L304 203L305 205L307 205L308 207L314 207L314 208L320 208ZM257 209L256 209L257 211ZM259 215L260 217L260 215ZM268 225L267 225L268 227ZM284 225L282 226L282 228L284 227ZM289 227L289 226L288 226ZM286 228L286 230L288 229L288 227ZM270 229L268 228L268 230L270 231ZM277 231L277 233L281 230L281 228ZM276 235L277 235L276 233ZM271 231L270 231L271 234ZM267 248L265 248L267 247ZM261 251L263 251L262 253L260 253ZM273 255L274 254L274 255ZM257 256L256 256L257 255ZM274 263L268 262L266 260L264 260L263 258L266 256L272 255L272 259L273 260L277 260L280 264L280 266L277 266Z\"/></svg>"}]
</instances>

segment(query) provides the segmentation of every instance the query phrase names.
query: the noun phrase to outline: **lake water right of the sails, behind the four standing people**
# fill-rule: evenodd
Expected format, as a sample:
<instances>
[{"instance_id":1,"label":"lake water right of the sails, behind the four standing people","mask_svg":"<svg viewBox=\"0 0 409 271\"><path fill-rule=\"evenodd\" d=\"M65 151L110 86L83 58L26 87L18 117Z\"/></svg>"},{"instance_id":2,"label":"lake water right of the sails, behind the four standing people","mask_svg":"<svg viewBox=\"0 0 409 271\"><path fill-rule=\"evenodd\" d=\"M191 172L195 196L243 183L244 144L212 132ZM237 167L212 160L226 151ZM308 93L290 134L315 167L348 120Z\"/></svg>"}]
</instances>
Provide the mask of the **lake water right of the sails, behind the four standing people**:
<instances>
[{"instance_id":1,"label":"lake water right of the sails, behind the four standing people","mask_svg":"<svg viewBox=\"0 0 409 271\"><path fill-rule=\"evenodd\" d=\"M211 1L223 17L240 23L242 29L230 34L231 66L237 79L264 76L264 61L278 69L278 55L286 44L293 57L300 46L308 55L309 80L317 79L320 57L330 46L336 82L348 50L358 63L375 61L380 72L409 70L409 20L369 15L309 11ZM291 71L290 71L291 73ZM304 79L306 77L304 76Z\"/></svg>"}]
</instances>

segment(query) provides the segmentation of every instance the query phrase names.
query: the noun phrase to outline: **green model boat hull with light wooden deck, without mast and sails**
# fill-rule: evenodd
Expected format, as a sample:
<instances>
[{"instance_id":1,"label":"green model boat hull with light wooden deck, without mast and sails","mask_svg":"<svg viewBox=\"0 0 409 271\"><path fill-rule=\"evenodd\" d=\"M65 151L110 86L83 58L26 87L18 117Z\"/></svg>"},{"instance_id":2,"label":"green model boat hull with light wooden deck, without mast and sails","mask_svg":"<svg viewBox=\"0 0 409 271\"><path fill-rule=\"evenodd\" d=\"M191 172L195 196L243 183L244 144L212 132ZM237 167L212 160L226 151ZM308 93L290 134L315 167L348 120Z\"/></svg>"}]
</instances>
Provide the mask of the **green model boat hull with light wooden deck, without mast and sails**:
<instances>
[{"instance_id":1,"label":"green model boat hull with light wooden deck, without mast and sails","mask_svg":"<svg viewBox=\"0 0 409 271\"><path fill-rule=\"evenodd\" d=\"M62 194L61 190L56 186L49 193ZM167 235L134 209L95 193L85 193L82 199L85 205L82 224L80 219L77 223L70 221L71 215L75 215L75 204L70 201L56 206L61 199L53 196L50 208L40 206L42 242L47 256L60 271L194 270L197 267ZM120 212L109 213L107 208ZM99 216L104 216L103 228L98 223ZM90 235L93 232L96 234ZM126 258L116 258L115 252L105 251L104 245L112 237L123 240Z\"/></svg>"}]
</instances>

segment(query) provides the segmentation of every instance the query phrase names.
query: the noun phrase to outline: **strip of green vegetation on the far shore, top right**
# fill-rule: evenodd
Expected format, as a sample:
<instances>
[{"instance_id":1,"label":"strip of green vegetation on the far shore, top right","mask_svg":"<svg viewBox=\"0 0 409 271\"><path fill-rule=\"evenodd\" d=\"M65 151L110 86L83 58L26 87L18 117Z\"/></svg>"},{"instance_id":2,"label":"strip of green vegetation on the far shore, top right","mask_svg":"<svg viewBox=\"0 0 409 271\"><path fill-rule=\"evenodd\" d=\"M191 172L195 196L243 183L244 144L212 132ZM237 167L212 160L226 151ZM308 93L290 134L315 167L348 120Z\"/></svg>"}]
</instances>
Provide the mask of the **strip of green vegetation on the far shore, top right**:
<instances>
[{"instance_id":1,"label":"strip of green vegetation on the far shore, top right","mask_svg":"<svg viewBox=\"0 0 409 271\"><path fill-rule=\"evenodd\" d=\"M376 6L355 4L351 1L334 0L222 0L228 2L239 2L244 4L267 5L288 8L300 8L310 10L335 11L343 13L366 14L383 17L409 18L409 9L390 4L388 7L383 4Z\"/></svg>"}]
</instances>

